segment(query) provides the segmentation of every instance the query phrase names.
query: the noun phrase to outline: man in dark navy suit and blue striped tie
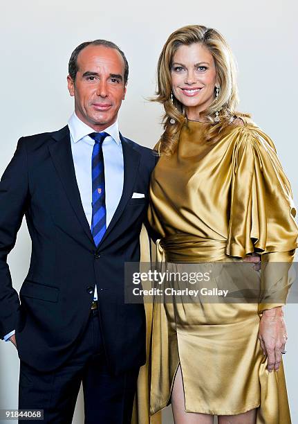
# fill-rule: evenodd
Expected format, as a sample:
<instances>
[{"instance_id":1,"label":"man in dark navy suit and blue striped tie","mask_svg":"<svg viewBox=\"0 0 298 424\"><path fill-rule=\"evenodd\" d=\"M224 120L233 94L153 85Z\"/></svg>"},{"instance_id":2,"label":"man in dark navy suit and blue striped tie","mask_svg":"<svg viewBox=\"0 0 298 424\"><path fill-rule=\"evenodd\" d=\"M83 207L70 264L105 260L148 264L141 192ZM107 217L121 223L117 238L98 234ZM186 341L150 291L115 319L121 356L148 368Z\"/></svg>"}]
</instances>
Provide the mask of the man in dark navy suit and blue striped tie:
<instances>
[{"instance_id":1,"label":"man in dark navy suit and blue striped tie","mask_svg":"<svg viewBox=\"0 0 298 424\"><path fill-rule=\"evenodd\" d=\"M140 260L156 156L118 130L129 73L118 46L80 44L68 71L68 125L22 137L0 182L0 337L21 360L19 409L71 423L83 382L86 423L130 423L145 312L124 303L124 262ZM32 256L18 296L6 259L24 215Z\"/></svg>"}]
</instances>

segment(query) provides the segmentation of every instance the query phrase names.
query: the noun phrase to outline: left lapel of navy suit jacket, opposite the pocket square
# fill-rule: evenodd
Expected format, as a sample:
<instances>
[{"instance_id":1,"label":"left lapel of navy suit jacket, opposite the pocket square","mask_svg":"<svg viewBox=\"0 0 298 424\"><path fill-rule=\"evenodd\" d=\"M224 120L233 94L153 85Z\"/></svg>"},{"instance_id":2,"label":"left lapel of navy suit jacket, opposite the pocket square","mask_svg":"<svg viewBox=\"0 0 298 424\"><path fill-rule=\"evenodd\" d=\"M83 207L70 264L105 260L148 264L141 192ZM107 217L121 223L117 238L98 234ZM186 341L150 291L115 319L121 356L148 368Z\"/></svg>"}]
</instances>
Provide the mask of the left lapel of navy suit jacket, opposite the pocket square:
<instances>
[{"instance_id":1,"label":"left lapel of navy suit jacket, opposite the pocket square","mask_svg":"<svg viewBox=\"0 0 298 424\"><path fill-rule=\"evenodd\" d=\"M89 222L86 219L84 209L82 206L82 200L80 197L80 191L77 186L77 179L75 177L75 166L73 164L73 154L71 152L71 138L68 130L68 126L62 128L52 134L52 138L56 141L49 145L50 155L53 159L55 168L61 179L62 185L66 192L71 206L77 219L82 224L82 227L86 235L93 242L93 237L89 228Z\"/></svg>"}]
</instances>

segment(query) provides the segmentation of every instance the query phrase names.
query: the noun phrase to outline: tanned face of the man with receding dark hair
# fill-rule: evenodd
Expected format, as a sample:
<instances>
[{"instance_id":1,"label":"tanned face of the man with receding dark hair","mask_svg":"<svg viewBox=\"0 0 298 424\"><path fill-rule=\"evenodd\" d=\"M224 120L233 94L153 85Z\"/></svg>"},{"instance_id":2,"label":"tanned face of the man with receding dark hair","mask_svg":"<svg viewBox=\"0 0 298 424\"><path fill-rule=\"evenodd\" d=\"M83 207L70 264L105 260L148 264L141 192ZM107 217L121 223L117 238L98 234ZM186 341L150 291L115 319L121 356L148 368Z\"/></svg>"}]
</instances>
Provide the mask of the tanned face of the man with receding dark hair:
<instances>
[{"instance_id":1,"label":"tanned face of the man with receding dark hair","mask_svg":"<svg viewBox=\"0 0 298 424\"><path fill-rule=\"evenodd\" d=\"M68 75L68 91L75 96L75 114L95 131L112 125L127 88L124 60L115 48L89 45L77 56L75 81Z\"/></svg>"}]
</instances>

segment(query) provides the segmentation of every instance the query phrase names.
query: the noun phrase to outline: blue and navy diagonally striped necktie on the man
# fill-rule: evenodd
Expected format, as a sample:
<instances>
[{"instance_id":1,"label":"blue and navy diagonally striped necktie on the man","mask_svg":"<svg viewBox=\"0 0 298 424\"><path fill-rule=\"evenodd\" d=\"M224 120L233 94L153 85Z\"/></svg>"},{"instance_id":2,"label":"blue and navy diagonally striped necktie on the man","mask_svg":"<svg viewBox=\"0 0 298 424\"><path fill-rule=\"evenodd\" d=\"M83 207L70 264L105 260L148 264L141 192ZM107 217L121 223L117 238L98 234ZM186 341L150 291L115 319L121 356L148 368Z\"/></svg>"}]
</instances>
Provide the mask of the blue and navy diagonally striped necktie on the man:
<instances>
[{"instance_id":1,"label":"blue and navy diagonally striped necktie on the man","mask_svg":"<svg viewBox=\"0 0 298 424\"><path fill-rule=\"evenodd\" d=\"M109 136L106 132L93 132L89 134L95 144L92 152L92 222L91 233L95 246L106 232L106 193L104 186L104 155L102 143Z\"/></svg>"}]
</instances>

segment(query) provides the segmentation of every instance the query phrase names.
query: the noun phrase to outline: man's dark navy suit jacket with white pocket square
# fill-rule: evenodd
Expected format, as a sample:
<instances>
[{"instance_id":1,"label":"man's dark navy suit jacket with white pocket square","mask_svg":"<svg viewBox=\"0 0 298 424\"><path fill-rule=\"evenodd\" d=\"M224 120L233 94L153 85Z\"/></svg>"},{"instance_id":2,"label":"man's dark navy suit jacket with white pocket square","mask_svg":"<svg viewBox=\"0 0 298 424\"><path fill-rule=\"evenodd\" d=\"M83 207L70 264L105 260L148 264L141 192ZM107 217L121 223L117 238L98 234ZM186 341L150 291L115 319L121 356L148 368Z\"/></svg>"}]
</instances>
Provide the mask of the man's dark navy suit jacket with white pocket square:
<instances>
[{"instance_id":1,"label":"man's dark navy suit jacket with white pocket square","mask_svg":"<svg viewBox=\"0 0 298 424\"><path fill-rule=\"evenodd\" d=\"M71 355L86 328L95 283L111 371L145 363L145 310L124 303L124 262L140 260L140 229L156 156L120 138L123 193L97 248L77 187L67 126L21 138L1 179L0 337L16 329L20 359L39 371L51 371ZM132 198L133 192L145 197ZM32 254L18 296L6 260L24 215Z\"/></svg>"}]
</instances>

